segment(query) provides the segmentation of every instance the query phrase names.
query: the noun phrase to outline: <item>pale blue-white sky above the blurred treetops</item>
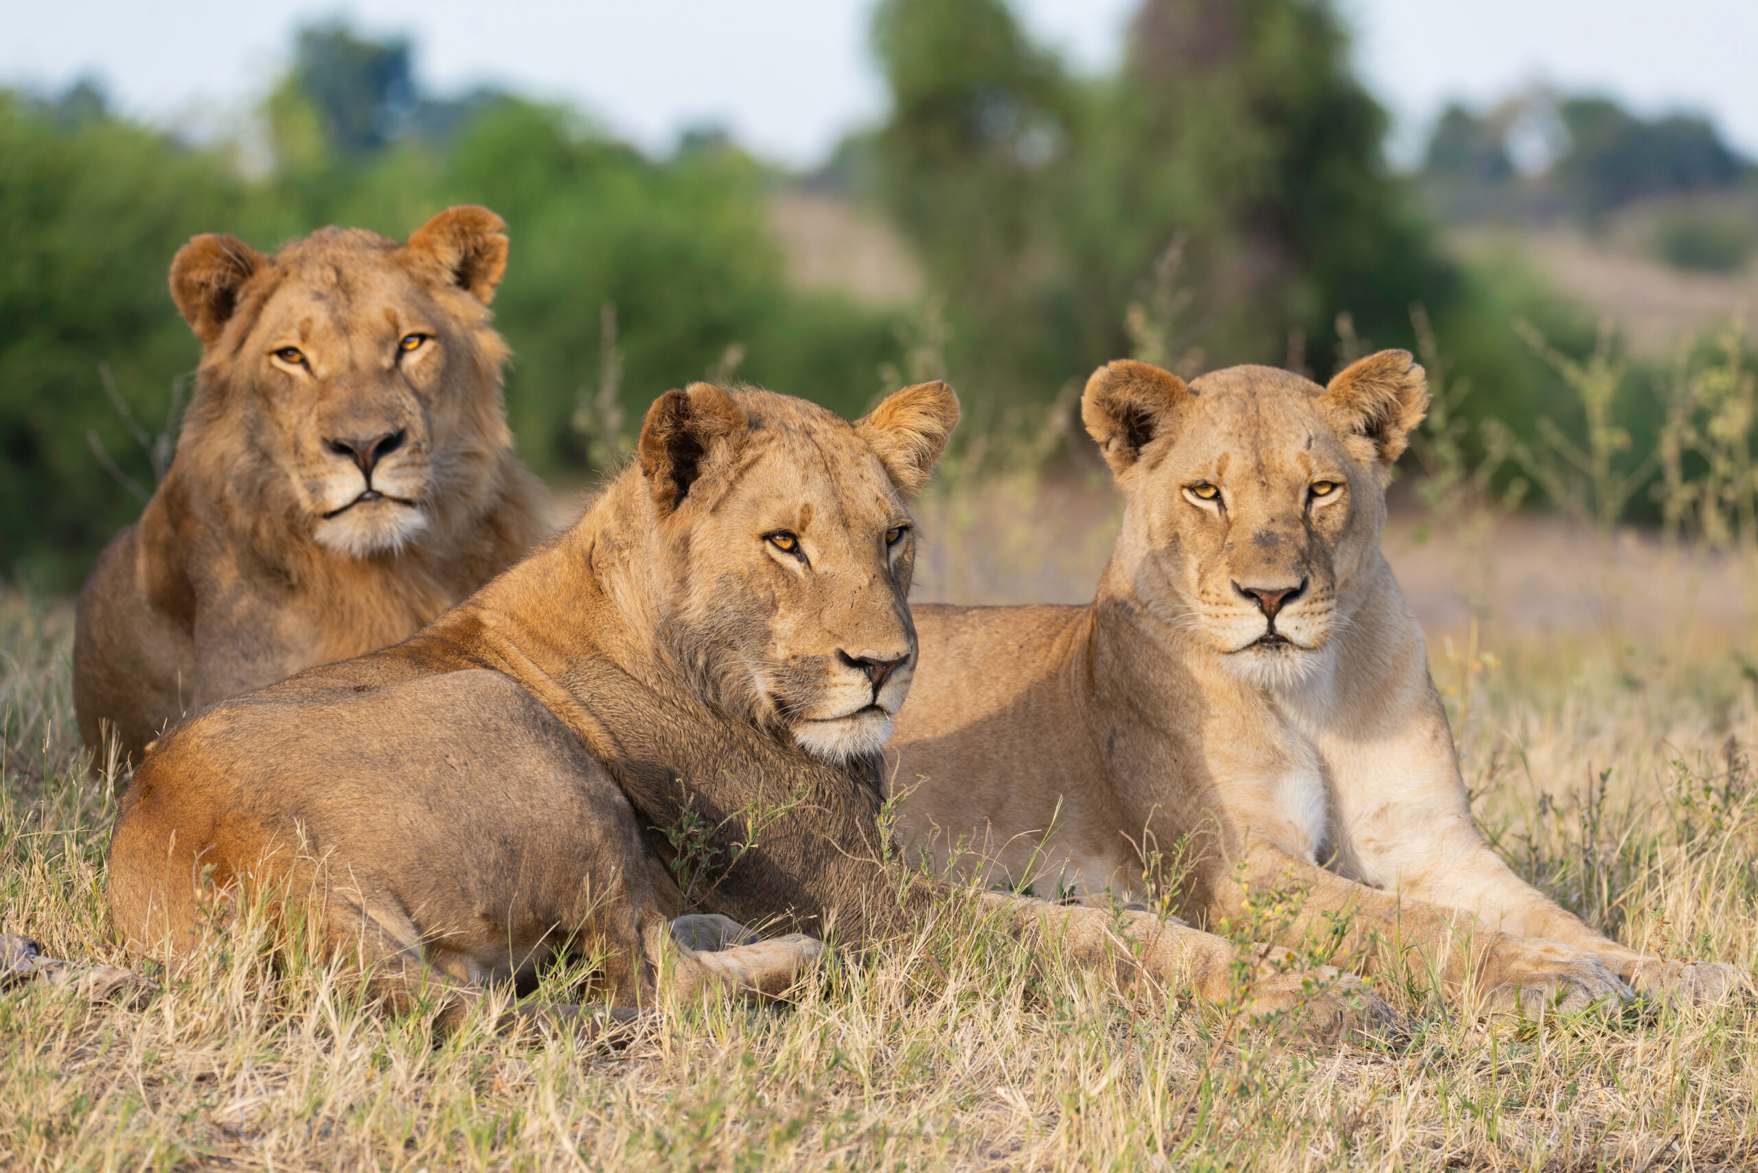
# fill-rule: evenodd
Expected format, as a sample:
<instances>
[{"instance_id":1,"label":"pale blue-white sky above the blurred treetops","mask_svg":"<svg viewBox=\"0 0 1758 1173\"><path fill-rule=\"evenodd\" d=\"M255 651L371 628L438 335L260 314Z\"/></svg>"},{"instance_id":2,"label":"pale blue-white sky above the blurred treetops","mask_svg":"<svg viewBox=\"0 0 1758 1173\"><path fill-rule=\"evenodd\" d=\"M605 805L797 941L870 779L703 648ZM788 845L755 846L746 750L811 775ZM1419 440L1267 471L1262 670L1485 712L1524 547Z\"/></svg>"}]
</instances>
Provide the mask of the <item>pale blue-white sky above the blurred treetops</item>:
<instances>
[{"instance_id":1,"label":"pale blue-white sky above the blurred treetops","mask_svg":"<svg viewBox=\"0 0 1758 1173\"><path fill-rule=\"evenodd\" d=\"M1136 0L1014 0L1081 70L1116 60ZM1709 112L1758 156L1758 0L1338 0L1357 61L1412 156L1450 97L1542 81L1635 109ZM717 123L758 153L819 162L884 112L867 56L872 0L0 0L0 84L102 81L127 112L218 125L262 97L292 32L348 16L404 33L431 91L489 83L568 100L668 149Z\"/></svg>"}]
</instances>

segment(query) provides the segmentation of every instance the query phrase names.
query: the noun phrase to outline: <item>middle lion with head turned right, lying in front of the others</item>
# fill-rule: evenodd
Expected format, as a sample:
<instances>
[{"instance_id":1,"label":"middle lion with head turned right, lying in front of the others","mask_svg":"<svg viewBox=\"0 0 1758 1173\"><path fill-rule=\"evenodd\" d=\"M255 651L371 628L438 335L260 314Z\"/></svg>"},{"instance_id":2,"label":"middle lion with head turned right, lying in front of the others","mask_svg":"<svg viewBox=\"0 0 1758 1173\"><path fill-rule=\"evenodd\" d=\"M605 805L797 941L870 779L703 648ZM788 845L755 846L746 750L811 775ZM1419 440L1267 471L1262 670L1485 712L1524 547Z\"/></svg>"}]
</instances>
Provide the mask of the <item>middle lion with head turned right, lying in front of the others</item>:
<instances>
[{"instance_id":1,"label":"middle lion with head turned right, lying in front of the others","mask_svg":"<svg viewBox=\"0 0 1758 1173\"><path fill-rule=\"evenodd\" d=\"M738 922L877 945L933 915L881 853L881 757L916 671L904 502L958 420L942 383L854 425L805 400L698 383L647 413L638 465L559 537L411 639L313 667L163 736L111 841L116 931L172 959L206 910L315 901L332 955L396 1008L438 989L441 1027L483 982L598 954L619 1008L714 985L777 994L821 950ZM663 834L777 818L668 924ZM1225 996L1234 950L1146 913L993 897L1079 962ZM726 948L721 948L726 946ZM1318 1029L1382 1003L1354 978L1257 955L1257 1010ZM670 968L670 989L656 975ZM573 1008L543 1008L570 1015ZM1359 1018L1357 1018L1359 1020Z\"/></svg>"}]
</instances>

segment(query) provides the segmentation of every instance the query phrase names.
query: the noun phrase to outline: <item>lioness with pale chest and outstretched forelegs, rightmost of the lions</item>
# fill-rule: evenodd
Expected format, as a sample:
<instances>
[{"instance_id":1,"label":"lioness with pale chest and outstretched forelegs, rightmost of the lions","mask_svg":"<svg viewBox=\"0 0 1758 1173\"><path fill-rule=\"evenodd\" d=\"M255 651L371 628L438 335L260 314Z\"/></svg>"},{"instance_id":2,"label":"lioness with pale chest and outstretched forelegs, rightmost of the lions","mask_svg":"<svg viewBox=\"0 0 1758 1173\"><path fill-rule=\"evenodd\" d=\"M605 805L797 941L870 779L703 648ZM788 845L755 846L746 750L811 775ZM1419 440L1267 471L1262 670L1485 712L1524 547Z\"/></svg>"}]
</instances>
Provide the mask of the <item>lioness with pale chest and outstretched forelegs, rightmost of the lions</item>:
<instances>
[{"instance_id":1,"label":"lioness with pale chest and outstretched forelegs, rightmost of the lions","mask_svg":"<svg viewBox=\"0 0 1758 1173\"><path fill-rule=\"evenodd\" d=\"M1287 943L1350 911L1343 945L1369 964L1420 950L1487 1006L1735 985L1728 966L1593 932L1473 825L1422 632L1380 555L1391 464L1426 406L1405 351L1326 388L1266 367L1188 386L1101 367L1081 414L1127 507L1097 599L916 608L895 753L900 780L925 781L905 836L942 862L963 836L1013 878L1088 899L1139 889L1151 852L1183 846L1195 922L1292 883L1308 899Z\"/></svg>"}]
</instances>

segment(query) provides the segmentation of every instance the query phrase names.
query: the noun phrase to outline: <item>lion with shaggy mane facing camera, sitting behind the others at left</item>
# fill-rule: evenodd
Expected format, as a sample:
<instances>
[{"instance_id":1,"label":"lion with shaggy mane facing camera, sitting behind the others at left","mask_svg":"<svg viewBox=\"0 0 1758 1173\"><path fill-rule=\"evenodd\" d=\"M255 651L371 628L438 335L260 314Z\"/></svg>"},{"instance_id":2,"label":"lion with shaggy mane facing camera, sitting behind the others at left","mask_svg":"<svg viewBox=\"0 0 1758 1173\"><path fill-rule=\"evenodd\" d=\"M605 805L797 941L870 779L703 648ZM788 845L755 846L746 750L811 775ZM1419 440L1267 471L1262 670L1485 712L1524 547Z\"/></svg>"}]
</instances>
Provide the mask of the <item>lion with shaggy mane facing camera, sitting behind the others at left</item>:
<instances>
[{"instance_id":1,"label":"lion with shaggy mane facing camera, sitting behind the others at left","mask_svg":"<svg viewBox=\"0 0 1758 1173\"><path fill-rule=\"evenodd\" d=\"M114 725L139 760L185 711L403 639L531 548L543 495L489 314L505 269L482 207L401 246L325 228L274 256L218 235L178 253L202 362L165 481L79 595L88 745Z\"/></svg>"}]
</instances>

